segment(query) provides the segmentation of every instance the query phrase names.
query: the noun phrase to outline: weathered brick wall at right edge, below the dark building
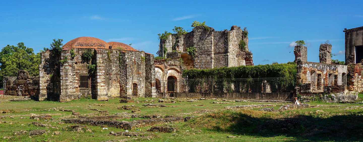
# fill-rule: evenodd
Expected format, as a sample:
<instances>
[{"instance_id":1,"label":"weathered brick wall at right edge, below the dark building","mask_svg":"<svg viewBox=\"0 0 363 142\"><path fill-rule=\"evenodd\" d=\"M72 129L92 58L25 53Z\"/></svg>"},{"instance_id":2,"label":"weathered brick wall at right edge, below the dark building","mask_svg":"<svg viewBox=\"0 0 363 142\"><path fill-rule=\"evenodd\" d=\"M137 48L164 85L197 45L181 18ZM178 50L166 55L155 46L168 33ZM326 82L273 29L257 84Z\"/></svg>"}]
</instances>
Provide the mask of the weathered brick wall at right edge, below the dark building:
<instances>
[{"instance_id":1,"label":"weathered brick wall at right edge, below the dark building","mask_svg":"<svg viewBox=\"0 0 363 142\"><path fill-rule=\"evenodd\" d=\"M363 91L363 63L348 64L347 89L350 93Z\"/></svg>"}]
</instances>

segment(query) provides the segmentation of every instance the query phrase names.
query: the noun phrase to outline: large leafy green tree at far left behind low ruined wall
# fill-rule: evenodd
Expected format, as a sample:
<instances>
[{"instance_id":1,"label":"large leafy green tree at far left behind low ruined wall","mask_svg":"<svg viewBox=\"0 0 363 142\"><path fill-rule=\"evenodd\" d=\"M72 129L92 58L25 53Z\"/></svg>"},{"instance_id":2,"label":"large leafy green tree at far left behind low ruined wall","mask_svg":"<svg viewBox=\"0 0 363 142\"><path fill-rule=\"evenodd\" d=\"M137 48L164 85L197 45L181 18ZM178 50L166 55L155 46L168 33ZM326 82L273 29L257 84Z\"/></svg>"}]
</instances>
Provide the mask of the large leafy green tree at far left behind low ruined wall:
<instances>
[{"instance_id":1,"label":"large leafy green tree at far left behind low ruined wall","mask_svg":"<svg viewBox=\"0 0 363 142\"><path fill-rule=\"evenodd\" d=\"M19 70L26 70L30 76L39 76L40 54L34 54L23 42L17 46L5 46L0 52L0 83L4 76L17 76Z\"/></svg>"}]
</instances>

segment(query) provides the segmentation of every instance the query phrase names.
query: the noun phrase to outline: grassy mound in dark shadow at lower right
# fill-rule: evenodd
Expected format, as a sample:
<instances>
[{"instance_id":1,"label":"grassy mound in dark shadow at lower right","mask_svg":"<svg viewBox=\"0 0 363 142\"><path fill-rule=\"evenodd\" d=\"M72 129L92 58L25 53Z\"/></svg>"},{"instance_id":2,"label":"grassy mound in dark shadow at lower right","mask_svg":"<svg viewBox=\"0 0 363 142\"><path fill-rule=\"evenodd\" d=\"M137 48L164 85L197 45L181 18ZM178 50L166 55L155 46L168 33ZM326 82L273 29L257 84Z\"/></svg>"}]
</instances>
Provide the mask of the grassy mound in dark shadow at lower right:
<instances>
[{"instance_id":1,"label":"grassy mound in dark shadow at lower right","mask_svg":"<svg viewBox=\"0 0 363 142\"><path fill-rule=\"evenodd\" d=\"M314 113L275 119L268 113L252 117L250 114L225 111L205 114L193 119L191 124L203 127L204 123L213 131L256 137L286 136L294 137L297 141L363 141L362 112L327 118L318 115Z\"/></svg>"}]
</instances>

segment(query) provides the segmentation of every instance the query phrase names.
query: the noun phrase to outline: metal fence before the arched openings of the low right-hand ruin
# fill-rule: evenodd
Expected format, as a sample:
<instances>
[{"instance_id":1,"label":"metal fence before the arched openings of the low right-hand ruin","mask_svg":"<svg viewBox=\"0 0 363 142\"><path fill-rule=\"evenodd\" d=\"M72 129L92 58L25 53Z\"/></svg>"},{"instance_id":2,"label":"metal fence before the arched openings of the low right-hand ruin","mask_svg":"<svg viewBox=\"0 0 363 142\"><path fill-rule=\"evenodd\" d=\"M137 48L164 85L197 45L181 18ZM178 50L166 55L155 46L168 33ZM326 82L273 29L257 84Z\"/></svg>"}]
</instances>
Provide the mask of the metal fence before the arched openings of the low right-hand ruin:
<instances>
[{"instance_id":1,"label":"metal fence before the arched openings of the low right-hand ruin","mask_svg":"<svg viewBox=\"0 0 363 142\"><path fill-rule=\"evenodd\" d=\"M347 85L347 76L332 74L327 76L305 76L301 79L301 83L310 83L312 92L323 92L324 86Z\"/></svg>"}]
</instances>

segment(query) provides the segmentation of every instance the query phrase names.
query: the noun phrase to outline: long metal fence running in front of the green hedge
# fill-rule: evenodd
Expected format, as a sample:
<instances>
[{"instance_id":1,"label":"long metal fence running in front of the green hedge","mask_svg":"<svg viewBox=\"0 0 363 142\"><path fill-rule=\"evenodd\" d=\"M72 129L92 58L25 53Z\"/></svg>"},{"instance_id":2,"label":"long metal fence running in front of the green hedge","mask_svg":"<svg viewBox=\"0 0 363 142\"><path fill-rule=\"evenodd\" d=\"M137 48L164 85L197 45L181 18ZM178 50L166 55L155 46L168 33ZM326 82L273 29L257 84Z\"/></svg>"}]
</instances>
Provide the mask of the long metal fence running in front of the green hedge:
<instances>
[{"instance_id":1,"label":"long metal fence running in front of the green hedge","mask_svg":"<svg viewBox=\"0 0 363 142\"><path fill-rule=\"evenodd\" d=\"M158 84L158 83L156 83ZM182 79L160 80L159 92L293 92L295 79L248 78L248 79Z\"/></svg>"}]
</instances>

